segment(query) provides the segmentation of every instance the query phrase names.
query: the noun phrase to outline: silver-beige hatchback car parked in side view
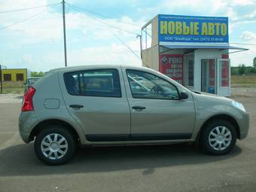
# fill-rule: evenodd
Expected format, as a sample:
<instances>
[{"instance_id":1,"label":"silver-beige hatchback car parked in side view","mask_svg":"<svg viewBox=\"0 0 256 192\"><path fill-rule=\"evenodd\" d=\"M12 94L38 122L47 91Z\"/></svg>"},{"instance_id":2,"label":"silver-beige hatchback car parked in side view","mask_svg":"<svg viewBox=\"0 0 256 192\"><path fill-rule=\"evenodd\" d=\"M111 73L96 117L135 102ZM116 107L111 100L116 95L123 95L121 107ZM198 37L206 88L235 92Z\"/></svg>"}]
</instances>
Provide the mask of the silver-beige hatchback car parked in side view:
<instances>
[{"instance_id":1,"label":"silver-beige hatchback car parked in side view","mask_svg":"<svg viewBox=\"0 0 256 192\"><path fill-rule=\"evenodd\" d=\"M23 99L24 142L44 163L66 163L78 145L194 142L227 154L248 134L239 102L194 93L152 69L80 66L53 69Z\"/></svg>"}]
</instances>

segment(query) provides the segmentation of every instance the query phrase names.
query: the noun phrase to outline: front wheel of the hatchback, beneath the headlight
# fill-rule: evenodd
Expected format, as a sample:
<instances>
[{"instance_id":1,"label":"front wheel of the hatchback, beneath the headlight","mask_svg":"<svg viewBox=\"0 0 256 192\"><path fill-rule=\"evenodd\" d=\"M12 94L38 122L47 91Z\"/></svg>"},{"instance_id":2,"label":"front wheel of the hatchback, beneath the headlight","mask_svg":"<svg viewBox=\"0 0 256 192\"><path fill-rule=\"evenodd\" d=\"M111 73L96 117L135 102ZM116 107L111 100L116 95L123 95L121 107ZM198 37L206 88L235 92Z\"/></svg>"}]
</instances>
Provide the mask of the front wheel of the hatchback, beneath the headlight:
<instances>
[{"instance_id":1,"label":"front wheel of the hatchback, beneath the headlight","mask_svg":"<svg viewBox=\"0 0 256 192\"><path fill-rule=\"evenodd\" d=\"M236 145L236 129L227 120L207 124L200 136L200 148L208 154L223 155Z\"/></svg>"}]
</instances>

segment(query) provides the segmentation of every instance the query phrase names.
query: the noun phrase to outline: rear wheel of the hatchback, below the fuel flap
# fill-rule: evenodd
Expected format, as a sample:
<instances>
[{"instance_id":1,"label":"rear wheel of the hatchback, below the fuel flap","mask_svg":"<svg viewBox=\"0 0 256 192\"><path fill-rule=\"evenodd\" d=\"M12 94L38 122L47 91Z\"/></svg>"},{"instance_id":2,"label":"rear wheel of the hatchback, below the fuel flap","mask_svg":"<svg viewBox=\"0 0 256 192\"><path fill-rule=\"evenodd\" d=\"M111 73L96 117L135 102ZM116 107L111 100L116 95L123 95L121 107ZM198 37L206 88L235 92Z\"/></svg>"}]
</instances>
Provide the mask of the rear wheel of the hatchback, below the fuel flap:
<instances>
[{"instance_id":1,"label":"rear wheel of the hatchback, below the fuel flap","mask_svg":"<svg viewBox=\"0 0 256 192\"><path fill-rule=\"evenodd\" d=\"M67 163L75 153L77 142L66 127L48 126L35 138L35 154L47 165Z\"/></svg>"}]
</instances>

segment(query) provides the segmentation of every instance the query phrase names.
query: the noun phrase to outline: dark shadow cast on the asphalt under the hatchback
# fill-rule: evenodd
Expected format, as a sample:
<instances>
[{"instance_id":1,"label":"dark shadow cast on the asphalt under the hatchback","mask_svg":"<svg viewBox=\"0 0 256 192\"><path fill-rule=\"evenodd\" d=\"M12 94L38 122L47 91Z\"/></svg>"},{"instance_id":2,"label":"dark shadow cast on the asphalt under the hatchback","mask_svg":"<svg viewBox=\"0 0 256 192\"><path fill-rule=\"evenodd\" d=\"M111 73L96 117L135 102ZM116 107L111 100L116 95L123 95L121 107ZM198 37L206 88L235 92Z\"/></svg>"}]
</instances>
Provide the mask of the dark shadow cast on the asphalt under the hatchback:
<instances>
[{"instance_id":1,"label":"dark shadow cast on the asphalt under the hatchback","mask_svg":"<svg viewBox=\"0 0 256 192\"><path fill-rule=\"evenodd\" d=\"M199 163L214 163L236 157L236 147L224 156L211 156L193 145L147 145L79 148L66 165L47 166L35 157L33 144L15 145L0 151L0 176L51 175L84 172L111 172L144 169L150 175L156 168Z\"/></svg>"}]
</instances>

